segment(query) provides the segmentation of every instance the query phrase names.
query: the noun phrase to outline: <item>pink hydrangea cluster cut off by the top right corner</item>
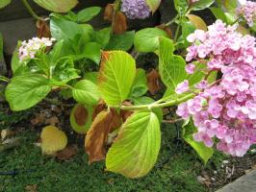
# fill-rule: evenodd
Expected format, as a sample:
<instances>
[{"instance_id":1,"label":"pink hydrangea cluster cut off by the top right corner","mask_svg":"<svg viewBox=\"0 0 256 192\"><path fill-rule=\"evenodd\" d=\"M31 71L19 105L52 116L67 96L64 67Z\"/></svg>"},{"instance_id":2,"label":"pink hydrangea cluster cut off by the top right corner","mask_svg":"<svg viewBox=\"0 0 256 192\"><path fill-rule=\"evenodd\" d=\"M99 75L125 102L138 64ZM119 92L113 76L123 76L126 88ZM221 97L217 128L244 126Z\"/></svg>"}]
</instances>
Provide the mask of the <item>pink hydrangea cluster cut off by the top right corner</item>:
<instances>
[{"instance_id":1,"label":"pink hydrangea cluster cut off by the top right corner","mask_svg":"<svg viewBox=\"0 0 256 192\"><path fill-rule=\"evenodd\" d=\"M252 27L256 21L256 2L245 1L238 9L239 15L242 15L249 27Z\"/></svg>"}]
</instances>

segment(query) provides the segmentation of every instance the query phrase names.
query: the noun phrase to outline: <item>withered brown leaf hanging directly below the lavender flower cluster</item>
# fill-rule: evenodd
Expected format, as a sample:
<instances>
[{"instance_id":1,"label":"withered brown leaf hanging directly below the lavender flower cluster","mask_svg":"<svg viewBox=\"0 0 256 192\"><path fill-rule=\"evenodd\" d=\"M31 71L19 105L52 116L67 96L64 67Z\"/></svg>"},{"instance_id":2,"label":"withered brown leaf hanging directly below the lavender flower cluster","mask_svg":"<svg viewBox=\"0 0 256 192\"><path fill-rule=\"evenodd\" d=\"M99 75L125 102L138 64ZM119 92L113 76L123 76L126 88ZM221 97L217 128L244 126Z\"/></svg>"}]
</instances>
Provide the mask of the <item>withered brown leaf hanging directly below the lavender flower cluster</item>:
<instances>
[{"instance_id":1,"label":"withered brown leaf hanging directly below the lavender flower cluster","mask_svg":"<svg viewBox=\"0 0 256 192\"><path fill-rule=\"evenodd\" d=\"M112 23L112 30L115 34L123 34L127 30L126 16L122 12L116 12Z\"/></svg>"}]
</instances>

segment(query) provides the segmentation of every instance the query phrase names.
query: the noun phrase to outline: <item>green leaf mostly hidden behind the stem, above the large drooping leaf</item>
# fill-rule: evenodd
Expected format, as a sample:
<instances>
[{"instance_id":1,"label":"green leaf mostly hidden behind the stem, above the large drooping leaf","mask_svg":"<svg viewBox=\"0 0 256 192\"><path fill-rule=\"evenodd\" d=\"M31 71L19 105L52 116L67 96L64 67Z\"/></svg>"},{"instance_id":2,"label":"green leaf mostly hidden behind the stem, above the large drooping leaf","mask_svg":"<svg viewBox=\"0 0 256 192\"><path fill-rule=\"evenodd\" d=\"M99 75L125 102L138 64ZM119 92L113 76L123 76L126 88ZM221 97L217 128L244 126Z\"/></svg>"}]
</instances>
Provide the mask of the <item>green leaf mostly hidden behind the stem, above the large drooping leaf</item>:
<instances>
[{"instance_id":1,"label":"green leaf mostly hidden behind the stem, above the large drooping leaf","mask_svg":"<svg viewBox=\"0 0 256 192\"><path fill-rule=\"evenodd\" d=\"M151 97L138 97L138 98L132 98L132 101L134 102L134 105L148 105L153 104L156 102ZM152 108L152 111L157 115L159 122L163 121L163 109L162 108Z\"/></svg>"}]
</instances>

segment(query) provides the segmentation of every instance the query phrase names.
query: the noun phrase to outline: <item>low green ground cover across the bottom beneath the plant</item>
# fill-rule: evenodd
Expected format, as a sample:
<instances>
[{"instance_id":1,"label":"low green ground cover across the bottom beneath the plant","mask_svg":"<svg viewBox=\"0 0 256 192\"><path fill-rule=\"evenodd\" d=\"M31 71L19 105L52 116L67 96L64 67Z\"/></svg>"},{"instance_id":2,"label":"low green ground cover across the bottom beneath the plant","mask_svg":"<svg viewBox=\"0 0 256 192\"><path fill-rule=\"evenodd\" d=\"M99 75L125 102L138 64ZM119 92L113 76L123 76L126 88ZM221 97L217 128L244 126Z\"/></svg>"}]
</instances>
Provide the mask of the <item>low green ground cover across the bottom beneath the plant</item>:
<instances>
[{"instance_id":1,"label":"low green ground cover across the bottom beneath the plant","mask_svg":"<svg viewBox=\"0 0 256 192\"><path fill-rule=\"evenodd\" d=\"M17 116L12 118L12 125L16 125L23 119L20 117L21 113L15 115ZM26 115L29 114L25 113L23 117ZM10 124L6 123L5 127L8 126ZM38 132L23 131L19 134L22 137L22 144L0 154L0 172L13 169L22 172L14 177L0 176L0 191L25 191L25 187L32 184L37 184L38 191L43 192L207 191L207 188L196 180L200 170L204 168L202 161L188 145L175 139L176 132L173 127L164 126L162 132L162 149L156 166L144 178L131 180L104 171L104 162L88 165L88 156L83 146L80 146L79 154L69 161L41 156L40 149L34 145L38 140ZM208 166L211 167L212 163L218 163L219 159L221 156L210 162ZM29 170L31 172L27 172Z\"/></svg>"}]
</instances>

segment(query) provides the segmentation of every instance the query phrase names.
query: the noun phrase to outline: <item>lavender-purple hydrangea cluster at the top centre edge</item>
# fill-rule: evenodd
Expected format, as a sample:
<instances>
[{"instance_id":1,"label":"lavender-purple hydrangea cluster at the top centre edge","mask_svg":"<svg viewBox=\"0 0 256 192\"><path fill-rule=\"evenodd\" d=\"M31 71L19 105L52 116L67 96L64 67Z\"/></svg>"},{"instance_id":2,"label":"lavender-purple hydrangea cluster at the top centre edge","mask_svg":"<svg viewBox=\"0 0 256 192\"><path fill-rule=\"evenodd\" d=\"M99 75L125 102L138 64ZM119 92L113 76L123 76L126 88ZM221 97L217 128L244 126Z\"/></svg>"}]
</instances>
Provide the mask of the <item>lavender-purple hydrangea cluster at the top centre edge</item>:
<instances>
[{"instance_id":1,"label":"lavender-purple hydrangea cluster at the top centre edge","mask_svg":"<svg viewBox=\"0 0 256 192\"><path fill-rule=\"evenodd\" d=\"M150 15L145 0L122 0L121 12L124 12L130 19L144 19Z\"/></svg>"}]
</instances>

